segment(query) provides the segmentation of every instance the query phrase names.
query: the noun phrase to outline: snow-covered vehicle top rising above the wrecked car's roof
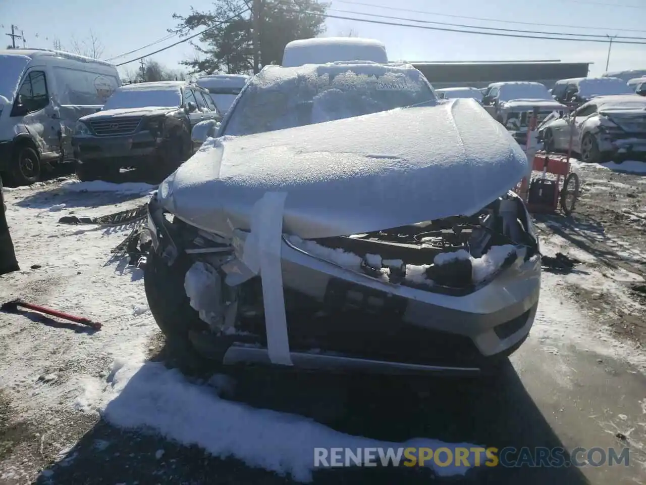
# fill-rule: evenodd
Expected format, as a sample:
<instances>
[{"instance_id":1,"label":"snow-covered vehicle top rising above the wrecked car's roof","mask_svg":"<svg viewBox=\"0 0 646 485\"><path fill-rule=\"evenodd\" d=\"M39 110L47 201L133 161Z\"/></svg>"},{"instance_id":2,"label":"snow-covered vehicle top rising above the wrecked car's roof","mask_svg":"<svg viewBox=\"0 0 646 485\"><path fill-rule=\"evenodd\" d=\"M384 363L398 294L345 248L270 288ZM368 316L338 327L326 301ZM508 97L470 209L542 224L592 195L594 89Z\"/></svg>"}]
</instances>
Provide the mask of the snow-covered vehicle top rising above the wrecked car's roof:
<instances>
[{"instance_id":1,"label":"snow-covered vehicle top rising above the wrecked car's roof","mask_svg":"<svg viewBox=\"0 0 646 485\"><path fill-rule=\"evenodd\" d=\"M342 61L388 63L386 46L375 39L318 37L291 41L283 52L283 67Z\"/></svg>"}]
</instances>

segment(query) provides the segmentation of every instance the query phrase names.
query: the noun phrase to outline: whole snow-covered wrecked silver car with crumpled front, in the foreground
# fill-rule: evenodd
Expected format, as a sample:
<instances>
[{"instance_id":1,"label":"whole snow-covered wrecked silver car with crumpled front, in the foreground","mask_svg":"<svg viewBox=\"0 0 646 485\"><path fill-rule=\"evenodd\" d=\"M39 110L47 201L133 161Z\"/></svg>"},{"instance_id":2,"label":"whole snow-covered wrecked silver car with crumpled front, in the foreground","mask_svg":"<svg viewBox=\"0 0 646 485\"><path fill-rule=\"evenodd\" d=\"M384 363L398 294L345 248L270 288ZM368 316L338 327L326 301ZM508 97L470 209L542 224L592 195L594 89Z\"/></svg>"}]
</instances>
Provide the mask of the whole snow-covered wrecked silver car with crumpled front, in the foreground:
<instances>
[{"instance_id":1,"label":"whole snow-covered wrecked silver car with crumpled front, in the foreground","mask_svg":"<svg viewBox=\"0 0 646 485\"><path fill-rule=\"evenodd\" d=\"M528 170L475 100L406 64L268 66L149 203L167 341L218 363L479 374L525 340Z\"/></svg>"}]
</instances>

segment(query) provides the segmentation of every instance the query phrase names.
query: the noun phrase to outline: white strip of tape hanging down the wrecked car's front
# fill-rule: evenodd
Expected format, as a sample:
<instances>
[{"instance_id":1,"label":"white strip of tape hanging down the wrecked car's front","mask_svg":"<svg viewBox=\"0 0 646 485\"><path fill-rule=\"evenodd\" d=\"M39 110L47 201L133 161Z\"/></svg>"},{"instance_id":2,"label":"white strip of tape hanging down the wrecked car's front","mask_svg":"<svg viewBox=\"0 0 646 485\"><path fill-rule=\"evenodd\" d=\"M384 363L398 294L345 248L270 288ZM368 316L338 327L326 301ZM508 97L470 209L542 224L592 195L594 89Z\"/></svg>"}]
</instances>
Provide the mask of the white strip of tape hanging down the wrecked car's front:
<instances>
[{"instance_id":1,"label":"white strip of tape hanging down the wrecked car's front","mask_svg":"<svg viewBox=\"0 0 646 485\"><path fill-rule=\"evenodd\" d=\"M292 365L280 263L286 198L285 192L267 192L253 206L251 233L244 243L242 263L255 274L260 273L269 360Z\"/></svg>"}]
</instances>

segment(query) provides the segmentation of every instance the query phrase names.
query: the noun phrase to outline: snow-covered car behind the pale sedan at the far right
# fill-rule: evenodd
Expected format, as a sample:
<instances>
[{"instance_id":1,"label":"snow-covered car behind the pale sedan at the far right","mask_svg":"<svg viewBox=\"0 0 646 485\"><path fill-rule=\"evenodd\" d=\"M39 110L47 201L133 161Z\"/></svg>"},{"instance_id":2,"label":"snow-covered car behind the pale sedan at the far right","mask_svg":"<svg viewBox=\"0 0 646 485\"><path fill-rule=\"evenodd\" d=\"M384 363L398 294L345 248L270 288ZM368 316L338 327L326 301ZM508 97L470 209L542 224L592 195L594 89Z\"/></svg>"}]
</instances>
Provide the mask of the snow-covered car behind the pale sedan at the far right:
<instances>
[{"instance_id":1,"label":"snow-covered car behind the pale sedan at the far right","mask_svg":"<svg viewBox=\"0 0 646 485\"><path fill-rule=\"evenodd\" d=\"M552 88L554 99L570 107L578 107L595 96L633 93L625 81L609 77L563 79Z\"/></svg>"}]
</instances>

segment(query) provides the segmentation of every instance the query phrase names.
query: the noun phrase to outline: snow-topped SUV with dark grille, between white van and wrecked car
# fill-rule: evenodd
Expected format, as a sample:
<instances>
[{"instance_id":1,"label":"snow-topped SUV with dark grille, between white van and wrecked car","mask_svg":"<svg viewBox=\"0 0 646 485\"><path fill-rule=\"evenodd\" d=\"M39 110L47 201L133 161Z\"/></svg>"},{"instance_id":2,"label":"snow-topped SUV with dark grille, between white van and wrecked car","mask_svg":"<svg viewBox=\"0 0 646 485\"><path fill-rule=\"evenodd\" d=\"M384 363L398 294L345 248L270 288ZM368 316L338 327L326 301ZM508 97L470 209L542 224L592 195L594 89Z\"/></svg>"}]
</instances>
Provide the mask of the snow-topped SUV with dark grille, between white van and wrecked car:
<instances>
[{"instance_id":1,"label":"snow-topped SUV with dark grille, between white van and wrecked car","mask_svg":"<svg viewBox=\"0 0 646 485\"><path fill-rule=\"evenodd\" d=\"M114 177L122 167L171 173L193 154L191 129L220 120L209 92L187 81L120 87L98 113L74 127L72 145L81 180Z\"/></svg>"}]
</instances>

